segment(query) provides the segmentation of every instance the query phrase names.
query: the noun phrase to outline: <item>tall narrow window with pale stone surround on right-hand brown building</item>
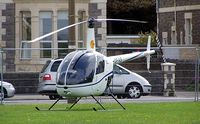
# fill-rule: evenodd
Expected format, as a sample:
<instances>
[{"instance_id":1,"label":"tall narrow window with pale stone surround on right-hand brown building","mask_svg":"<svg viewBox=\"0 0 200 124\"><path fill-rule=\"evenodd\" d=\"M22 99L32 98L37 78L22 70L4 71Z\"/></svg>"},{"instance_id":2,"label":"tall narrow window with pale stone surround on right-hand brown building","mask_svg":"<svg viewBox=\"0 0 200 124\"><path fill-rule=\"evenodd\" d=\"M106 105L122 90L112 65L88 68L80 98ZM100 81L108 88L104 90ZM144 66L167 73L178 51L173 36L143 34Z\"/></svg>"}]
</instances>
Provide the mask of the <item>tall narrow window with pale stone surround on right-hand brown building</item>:
<instances>
[{"instance_id":1,"label":"tall narrow window with pale stone surround on right-hand brown building","mask_svg":"<svg viewBox=\"0 0 200 124\"><path fill-rule=\"evenodd\" d=\"M192 13L185 13L185 44L192 44Z\"/></svg>"}]
</instances>

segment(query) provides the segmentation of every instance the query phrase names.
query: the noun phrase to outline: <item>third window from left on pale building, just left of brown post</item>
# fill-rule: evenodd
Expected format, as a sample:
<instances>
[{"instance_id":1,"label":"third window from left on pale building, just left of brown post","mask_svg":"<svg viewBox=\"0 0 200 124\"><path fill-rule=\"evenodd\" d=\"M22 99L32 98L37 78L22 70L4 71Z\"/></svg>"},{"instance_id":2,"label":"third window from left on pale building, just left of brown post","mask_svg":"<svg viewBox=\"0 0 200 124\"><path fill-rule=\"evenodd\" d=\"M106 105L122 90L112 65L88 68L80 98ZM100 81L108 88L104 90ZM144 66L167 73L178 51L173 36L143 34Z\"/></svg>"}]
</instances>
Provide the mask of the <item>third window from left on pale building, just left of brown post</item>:
<instances>
[{"instance_id":1,"label":"third window from left on pale building, just left of brown post","mask_svg":"<svg viewBox=\"0 0 200 124\"><path fill-rule=\"evenodd\" d=\"M68 11L65 11L65 10L58 11L57 28L60 29L68 25L69 25ZM62 58L66 56L67 54L68 39L69 39L68 29L58 32L57 41L58 41L58 57L59 58Z\"/></svg>"}]
</instances>

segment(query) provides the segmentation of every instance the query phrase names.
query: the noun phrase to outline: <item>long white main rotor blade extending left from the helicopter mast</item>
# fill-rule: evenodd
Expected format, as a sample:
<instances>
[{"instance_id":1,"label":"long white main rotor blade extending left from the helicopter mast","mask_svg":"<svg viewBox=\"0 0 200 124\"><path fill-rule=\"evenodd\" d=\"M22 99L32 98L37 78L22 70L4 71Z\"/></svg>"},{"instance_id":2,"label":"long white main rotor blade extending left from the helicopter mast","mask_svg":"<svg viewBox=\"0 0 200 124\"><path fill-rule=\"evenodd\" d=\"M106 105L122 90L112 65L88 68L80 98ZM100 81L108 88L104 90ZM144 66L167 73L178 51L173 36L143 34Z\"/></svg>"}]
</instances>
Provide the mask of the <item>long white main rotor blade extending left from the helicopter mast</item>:
<instances>
[{"instance_id":1,"label":"long white main rotor blade extending left from the helicopter mast","mask_svg":"<svg viewBox=\"0 0 200 124\"><path fill-rule=\"evenodd\" d=\"M83 23L86 23L86 22L88 22L88 21L86 20L86 21L78 22L78 23L75 23L75 24L72 24L72 25L68 25L68 26L66 26L66 27L60 28L60 29L58 29L58 30L55 30L55 31L53 31L53 32L50 32L50 33L48 33L48 34L45 34L45 35L43 35L43 36L41 36L41 37L35 38L35 39L33 39L33 40L31 40L31 41L28 41L28 42L36 42L36 41L39 41L39 40L41 40L41 39L43 39L43 38L46 38L46 37L48 37L48 36L50 36L50 35L52 35L52 34L58 33L58 32L60 32L60 31L62 31L62 30L65 30L65 29L68 29L68 28L71 28L71 27L73 27L73 26L80 25L80 24L83 24Z\"/></svg>"}]
</instances>

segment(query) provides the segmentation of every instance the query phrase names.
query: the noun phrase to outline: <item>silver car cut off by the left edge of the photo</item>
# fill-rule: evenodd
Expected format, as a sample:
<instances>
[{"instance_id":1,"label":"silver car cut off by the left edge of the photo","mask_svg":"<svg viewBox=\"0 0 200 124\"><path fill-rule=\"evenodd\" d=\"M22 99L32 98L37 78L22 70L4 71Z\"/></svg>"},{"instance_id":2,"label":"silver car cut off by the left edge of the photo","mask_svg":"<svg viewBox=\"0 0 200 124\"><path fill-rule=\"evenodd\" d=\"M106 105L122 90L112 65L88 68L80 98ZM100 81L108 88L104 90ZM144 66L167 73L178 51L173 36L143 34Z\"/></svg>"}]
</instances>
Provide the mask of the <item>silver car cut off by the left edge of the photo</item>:
<instances>
[{"instance_id":1,"label":"silver car cut off by the left edge of the photo","mask_svg":"<svg viewBox=\"0 0 200 124\"><path fill-rule=\"evenodd\" d=\"M2 82L4 98L13 97L15 95L15 88L11 83ZM0 97L1 97L1 81L0 81Z\"/></svg>"}]
</instances>

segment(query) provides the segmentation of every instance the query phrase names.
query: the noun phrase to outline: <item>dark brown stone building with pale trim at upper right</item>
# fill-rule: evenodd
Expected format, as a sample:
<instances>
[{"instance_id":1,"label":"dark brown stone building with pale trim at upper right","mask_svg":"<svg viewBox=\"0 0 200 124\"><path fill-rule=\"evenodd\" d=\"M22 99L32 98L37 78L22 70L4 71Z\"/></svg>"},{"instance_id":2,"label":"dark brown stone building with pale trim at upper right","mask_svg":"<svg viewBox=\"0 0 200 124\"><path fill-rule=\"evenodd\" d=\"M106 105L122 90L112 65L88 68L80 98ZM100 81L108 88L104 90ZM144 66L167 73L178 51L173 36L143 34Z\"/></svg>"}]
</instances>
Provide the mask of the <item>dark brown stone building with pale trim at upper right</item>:
<instances>
[{"instance_id":1,"label":"dark brown stone building with pale trim at upper right","mask_svg":"<svg viewBox=\"0 0 200 124\"><path fill-rule=\"evenodd\" d=\"M196 47L200 44L200 0L157 0L158 35L163 46ZM194 49L166 49L172 59L193 59Z\"/></svg>"}]
</instances>

